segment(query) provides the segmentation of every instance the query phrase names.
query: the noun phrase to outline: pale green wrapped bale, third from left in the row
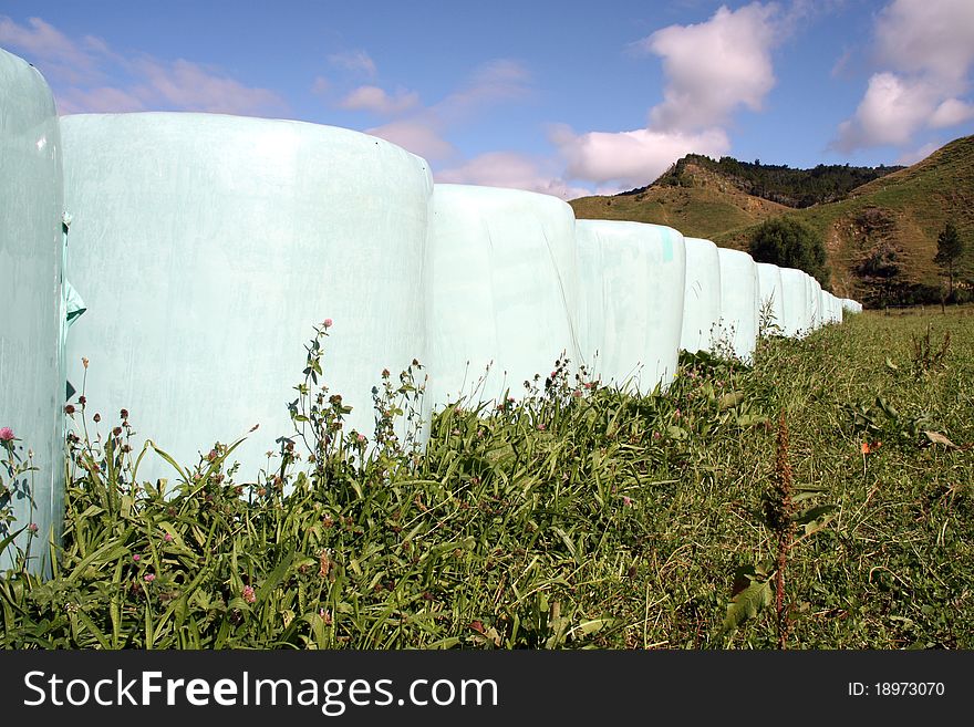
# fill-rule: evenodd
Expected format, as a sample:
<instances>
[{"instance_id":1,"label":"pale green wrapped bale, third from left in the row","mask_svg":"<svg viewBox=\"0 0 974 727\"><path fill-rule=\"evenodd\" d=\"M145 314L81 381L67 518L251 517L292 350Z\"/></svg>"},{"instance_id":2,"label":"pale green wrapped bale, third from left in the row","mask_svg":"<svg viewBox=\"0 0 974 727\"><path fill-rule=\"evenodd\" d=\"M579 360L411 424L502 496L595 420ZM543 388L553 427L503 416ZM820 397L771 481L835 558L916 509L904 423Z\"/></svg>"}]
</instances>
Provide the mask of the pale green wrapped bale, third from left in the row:
<instances>
[{"instance_id":1,"label":"pale green wrapped bale, third from left in the row","mask_svg":"<svg viewBox=\"0 0 974 727\"><path fill-rule=\"evenodd\" d=\"M490 402L578 364L574 215L519 189L436 185L426 250L427 402Z\"/></svg>"}]
</instances>

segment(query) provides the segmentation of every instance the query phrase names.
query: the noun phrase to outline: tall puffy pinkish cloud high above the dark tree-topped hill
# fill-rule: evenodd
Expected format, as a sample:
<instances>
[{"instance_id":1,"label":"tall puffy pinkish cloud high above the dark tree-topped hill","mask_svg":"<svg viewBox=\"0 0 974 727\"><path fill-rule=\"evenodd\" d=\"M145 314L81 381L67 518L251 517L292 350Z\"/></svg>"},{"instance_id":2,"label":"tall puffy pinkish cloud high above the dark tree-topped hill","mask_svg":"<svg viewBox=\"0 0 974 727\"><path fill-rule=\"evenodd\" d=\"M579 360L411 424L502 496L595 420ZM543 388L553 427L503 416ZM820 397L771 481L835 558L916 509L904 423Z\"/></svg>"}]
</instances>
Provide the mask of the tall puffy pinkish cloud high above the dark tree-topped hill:
<instances>
[{"instance_id":1,"label":"tall puffy pinkish cloud high above the dark tree-topped hill","mask_svg":"<svg viewBox=\"0 0 974 727\"><path fill-rule=\"evenodd\" d=\"M639 45L663 59L663 103L650 112L656 131L725 124L739 106L760 111L775 85L770 51L780 32L774 4L719 8L706 22L670 25Z\"/></svg>"}]
</instances>

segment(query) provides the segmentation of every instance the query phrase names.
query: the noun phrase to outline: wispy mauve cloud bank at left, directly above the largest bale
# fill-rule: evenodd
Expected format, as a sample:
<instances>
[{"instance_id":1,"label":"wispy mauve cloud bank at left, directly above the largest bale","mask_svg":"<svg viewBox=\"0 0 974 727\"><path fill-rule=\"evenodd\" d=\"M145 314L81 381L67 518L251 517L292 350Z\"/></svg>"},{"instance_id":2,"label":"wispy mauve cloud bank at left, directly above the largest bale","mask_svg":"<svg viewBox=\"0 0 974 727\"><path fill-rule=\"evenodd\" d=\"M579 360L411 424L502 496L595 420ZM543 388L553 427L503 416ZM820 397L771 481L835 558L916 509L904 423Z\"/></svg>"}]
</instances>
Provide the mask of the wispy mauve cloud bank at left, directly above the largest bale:
<instances>
[{"instance_id":1,"label":"wispy mauve cloud bank at left, directly above the largest bale","mask_svg":"<svg viewBox=\"0 0 974 727\"><path fill-rule=\"evenodd\" d=\"M62 113L146 110L265 114L287 107L268 89L251 87L198 63L126 58L103 40L74 41L39 18L19 25L0 17L0 43L29 55L51 85ZM111 65L114 85L105 67Z\"/></svg>"}]
</instances>

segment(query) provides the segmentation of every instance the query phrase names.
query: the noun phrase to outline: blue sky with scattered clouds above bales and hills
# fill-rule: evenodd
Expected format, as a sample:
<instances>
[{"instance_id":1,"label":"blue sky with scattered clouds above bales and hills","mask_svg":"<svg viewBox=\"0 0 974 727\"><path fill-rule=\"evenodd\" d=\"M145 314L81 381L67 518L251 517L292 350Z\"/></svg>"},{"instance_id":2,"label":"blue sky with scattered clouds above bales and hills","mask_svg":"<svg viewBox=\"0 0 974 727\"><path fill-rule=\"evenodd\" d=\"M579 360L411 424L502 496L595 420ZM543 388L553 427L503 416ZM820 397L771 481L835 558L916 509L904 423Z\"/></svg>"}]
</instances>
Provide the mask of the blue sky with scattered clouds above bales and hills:
<instances>
[{"instance_id":1,"label":"blue sky with scattered clouds above bales and hills","mask_svg":"<svg viewBox=\"0 0 974 727\"><path fill-rule=\"evenodd\" d=\"M566 199L691 152L910 164L974 133L972 0L0 0L0 48L62 114L330 124Z\"/></svg>"}]
</instances>

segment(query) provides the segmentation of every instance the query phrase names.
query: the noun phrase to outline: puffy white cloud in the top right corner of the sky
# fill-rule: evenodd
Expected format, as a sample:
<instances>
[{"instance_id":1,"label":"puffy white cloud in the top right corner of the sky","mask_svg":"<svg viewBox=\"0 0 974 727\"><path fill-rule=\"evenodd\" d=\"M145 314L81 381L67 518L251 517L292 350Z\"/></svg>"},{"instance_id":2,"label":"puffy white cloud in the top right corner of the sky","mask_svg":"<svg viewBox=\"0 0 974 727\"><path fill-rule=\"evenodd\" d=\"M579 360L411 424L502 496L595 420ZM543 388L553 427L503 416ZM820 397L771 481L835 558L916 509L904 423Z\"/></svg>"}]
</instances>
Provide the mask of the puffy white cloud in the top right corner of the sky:
<instances>
[{"instance_id":1,"label":"puffy white cloud in the top right corner of the sky","mask_svg":"<svg viewBox=\"0 0 974 727\"><path fill-rule=\"evenodd\" d=\"M974 64L974 2L894 0L879 13L874 32L877 56L888 70L870 77L833 148L905 148L924 129L974 118L974 105L960 97Z\"/></svg>"}]
</instances>

